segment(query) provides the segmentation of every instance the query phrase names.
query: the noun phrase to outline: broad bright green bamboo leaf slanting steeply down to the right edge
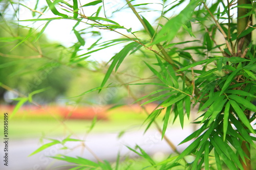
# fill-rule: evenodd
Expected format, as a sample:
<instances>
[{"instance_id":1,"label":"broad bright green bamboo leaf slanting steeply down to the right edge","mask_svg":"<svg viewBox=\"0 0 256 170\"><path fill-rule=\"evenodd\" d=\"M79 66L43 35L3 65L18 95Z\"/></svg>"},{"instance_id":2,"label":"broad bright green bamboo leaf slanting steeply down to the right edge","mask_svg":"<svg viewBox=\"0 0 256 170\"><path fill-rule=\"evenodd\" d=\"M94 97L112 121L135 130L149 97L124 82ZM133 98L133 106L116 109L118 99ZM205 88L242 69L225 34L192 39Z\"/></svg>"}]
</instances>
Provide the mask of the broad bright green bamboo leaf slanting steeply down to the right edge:
<instances>
[{"instance_id":1,"label":"broad bright green bamboo leaf slanting steeply down to the right edge","mask_svg":"<svg viewBox=\"0 0 256 170\"><path fill-rule=\"evenodd\" d=\"M251 127L249 120L245 116L242 109L239 107L236 101L229 100L229 103L233 107L234 111L238 114L238 117L240 118L241 122L250 130L251 133L255 133L253 128Z\"/></svg>"}]
</instances>

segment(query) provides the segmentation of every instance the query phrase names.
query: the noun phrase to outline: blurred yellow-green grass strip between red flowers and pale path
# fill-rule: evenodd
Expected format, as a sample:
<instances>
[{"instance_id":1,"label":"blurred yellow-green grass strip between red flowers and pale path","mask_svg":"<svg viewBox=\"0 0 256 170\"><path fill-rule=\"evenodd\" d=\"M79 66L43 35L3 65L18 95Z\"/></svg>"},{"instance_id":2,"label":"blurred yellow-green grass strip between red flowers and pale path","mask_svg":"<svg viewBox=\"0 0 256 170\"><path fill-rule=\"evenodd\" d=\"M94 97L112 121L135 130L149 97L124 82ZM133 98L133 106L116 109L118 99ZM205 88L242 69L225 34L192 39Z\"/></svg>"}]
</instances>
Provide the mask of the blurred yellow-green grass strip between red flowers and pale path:
<instances>
[{"instance_id":1,"label":"blurred yellow-green grass strip between red flowers and pale path","mask_svg":"<svg viewBox=\"0 0 256 170\"><path fill-rule=\"evenodd\" d=\"M57 108L52 108L50 110L52 111L51 113L54 113L54 109L57 110ZM153 109L154 107L151 107L148 110ZM142 126L142 123L147 115L138 106L122 106L111 109L106 112L106 115L108 119L98 120L92 133L144 130L146 127L146 125ZM158 118L160 126L162 126L163 115L161 114ZM3 120L2 116L0 115L0 119ZM52 114L41 110L24 111L20 109L12 119L9 119L9 135L12 138L38 138L44 134L47 134L47 136L85 134L92 124L92 120L65 120L59 114L55 114L54 116L55 118ZM185 121L185 125L188 123L188 120ZM180 126L179 120L177 119L176 123L172 126Z\"/></svg>"}]
</instances>

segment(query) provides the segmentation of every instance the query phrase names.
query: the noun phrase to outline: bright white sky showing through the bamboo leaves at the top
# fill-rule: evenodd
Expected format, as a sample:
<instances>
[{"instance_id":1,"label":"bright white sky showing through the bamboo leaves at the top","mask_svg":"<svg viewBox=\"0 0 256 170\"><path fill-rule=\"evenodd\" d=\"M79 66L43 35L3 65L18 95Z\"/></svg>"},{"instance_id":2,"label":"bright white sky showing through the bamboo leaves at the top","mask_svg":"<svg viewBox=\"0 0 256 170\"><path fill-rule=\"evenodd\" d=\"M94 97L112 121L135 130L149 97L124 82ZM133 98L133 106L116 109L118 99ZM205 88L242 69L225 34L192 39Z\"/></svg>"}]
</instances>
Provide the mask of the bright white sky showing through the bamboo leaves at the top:
<instances>
[{"instance_id":1,"label":"bright white sky showing through the bamboo leaves at the top","mask_svg":"<svg viewBox=\"0 0 256 170\"><path fill-rule=\"evenodd\" d=\"M173 0L171 0L173 1ZM84 1L81 1L81 3L83 3ZM87 4L90 1L86 1ZM151 0L151 1L146 1L146 0L136 0L136 4L143 4L143 3L162 3L162 1L160 0ZM112 15L112 11L115 11L117 9L122 8L126 2L120 1L120 0L104 0L105 3L105 10L106 10L106 17L110 18ZM167 3L166 3L167 4ZM25 5L30 7L30 8L34 8L35 6L35 1L25 1ZM46 1L39 1L39 7L45 6ZM141 6L143 7L143 6ZM158 9L161 10L162 6L161 5L147 5L147 7L152 7L154 9ZM182 8L182 7L181 7ZM40 8L38 8L40 9ZM84 9L84 13L86 14L86 16L91 16L97 9L98 6L89 6ZM140 11L140 10L138 10ZM180 10L176 10L176 13L179 12ZM102 13L100 14L101 17L104 17L103 15L103 10L101 11ZM149 22L154 23L155 19L157 17L159 17L160 12L143 12L140 13L141 15L143 15ZM50 10L48 12L45 13L45 18L51 18L51 17L58 17L56 15L54 15ZM30 10L24 10L20 11L20 18L19 20L25 20L25 19L31 19L32 15L31 15L31 11ZM142 25L139 22L139 20L137 19L137 17L132 13L131 9L123 9L121 10L121 12L117 12L114 13L114 15L110 18L116 22L118 22L121 26L124 26L125 28L129 29L132 28L132 31L139 31L142 29ZM32 23L32 22L31 22ZM36 22L34 24L34 28L38 28L38 31L40 31L42 29L42 27L44 27L44 24L46 23L46 21L40 21L40 22ZM76 21L74 20L68 20L68 19L60 19L60 20L54 20L52 22L50 22L50 24L48 25L48 27L45 30L45 34L47 35L47 37L53 41L58 41L61 42L61 44L65 45L65 46L71 46L74 42L77 42L77 38L74 35L74 32L72 31L73 26L75 25ZM28 25L29 22L20 22L20 24L23 25ZM76 29L83 29L83 27L85 26L84 23L81 23ZM154 25L153 25L154 26ZM155 23L156 26L156 23ZM121 31L122 33L128 35L128 33L125 30L118 30ZM106 40L111 40L111 39L115 39L115 38L119 38L121 37L121 35L115 33L115 32L111 32L111 31L106 31L106 30L101 30L102 33L102 40L106 41ZM83 36L84 40L86 41L86 45L84 46L89 47L93 42L96 41L96 39L94 37L88 37L88 36ZM87 43L90 42L90 43ZM113 48L109 48L97 53L94 53L90 59L92 60L97 60L97 61L109 61L109 59L111 57L113 57L114 52L117 53L118 50L121 50L122 45L116 45ZM86 51L81 51L80 54L86 53ZM102 55L104 54L104 55Z\"/></svg>"}]
</instances>

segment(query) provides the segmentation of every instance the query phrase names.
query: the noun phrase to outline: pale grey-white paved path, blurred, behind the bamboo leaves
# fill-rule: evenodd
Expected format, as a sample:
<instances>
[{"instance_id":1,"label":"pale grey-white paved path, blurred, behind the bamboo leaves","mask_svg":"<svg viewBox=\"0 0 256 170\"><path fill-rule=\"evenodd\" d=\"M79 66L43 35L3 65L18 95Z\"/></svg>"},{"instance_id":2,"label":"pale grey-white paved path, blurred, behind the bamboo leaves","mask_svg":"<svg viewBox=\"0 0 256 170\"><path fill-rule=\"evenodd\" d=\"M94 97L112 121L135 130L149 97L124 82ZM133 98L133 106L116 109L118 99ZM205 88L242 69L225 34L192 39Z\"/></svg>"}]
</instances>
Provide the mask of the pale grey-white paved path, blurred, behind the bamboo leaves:
<instances>
[{"instance_id":1,"label":"pale grey-white paved path, blurred, behind the bamboo leaves","mask_svg":"<svg viewBox=\"0 0 256 170\"><path fill-rule=\"evenodd\" d=\"M166 131L167 136L174 144L178 144L185 137L192 132L192 128L184 128L184 130L175 128L168 129ZM78 136L82 139L82 136ZM72 137L76 138L76 137ZM50 141L46 141L50 142ZM56 161L48 156L54 156L56 154L66 154L68 156L81 156L90 160L96 160L95 156L88 151L89 148L97 157L101 160L114 161L117 153L121 155L130 154L135 156L125 145L134 148L138 144L148 154L154 156L161 156L162 153L172 153L172 149L167 145L165 141L161 140L159 132L149 130L143 135L143 131L126 132L121 138L118 138L118 133L95 133L89 134L86 138L86 147L82 147L81 142L68 142L66 146L72 150L60 151L60 145L54 145L40 153L37 153L31 157L28 157L33 151L40 147L38 139L24 139L24 140L11 140L9 141L9 162L8 167L4 166L3 160L0 164L1 170L42 170L42 169L54 169L57 165L67 164L67 162ZM179 151L184 150L189 143L184 143L178 147ZM0 145L1 150L3 143ZM1 151L1 158L3 159L3 152ZM61 168L57 168L61 169Z\"/></svg>"}]
</instances>

